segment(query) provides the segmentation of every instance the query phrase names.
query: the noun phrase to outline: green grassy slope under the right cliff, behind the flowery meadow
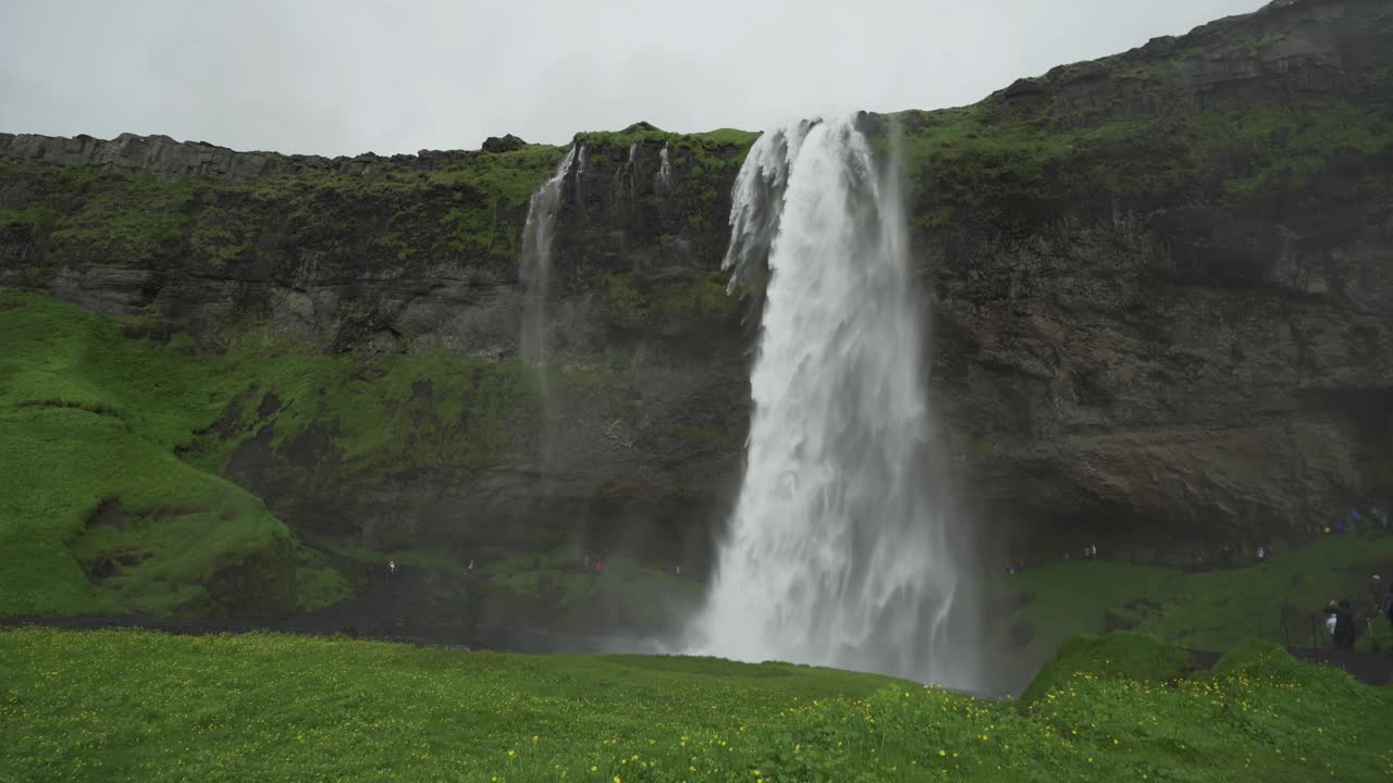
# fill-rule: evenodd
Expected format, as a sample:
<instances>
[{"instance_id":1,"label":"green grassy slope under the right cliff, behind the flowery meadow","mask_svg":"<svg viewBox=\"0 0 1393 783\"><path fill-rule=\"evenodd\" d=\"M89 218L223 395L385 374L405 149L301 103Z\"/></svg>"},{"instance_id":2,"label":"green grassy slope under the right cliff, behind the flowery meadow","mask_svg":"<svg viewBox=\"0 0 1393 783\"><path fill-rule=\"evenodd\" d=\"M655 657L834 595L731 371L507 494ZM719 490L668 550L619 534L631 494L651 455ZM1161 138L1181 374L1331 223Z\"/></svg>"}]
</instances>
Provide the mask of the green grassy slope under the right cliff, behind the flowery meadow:
<instances>
[{"instance_id":1,"label":"green grassy slope under the right cliff, behind the flowery meadow","mask_svg":"<svg viewBox=\"0 0 1393 783\"><path fill-rule=\"evenodd\" d=\"M1003 596L1034 594L1002 623L1003 627L1031 624L1035 638L1022 655L1032 660L1050 656L1071 634L1103 630L1109 612L1117 620L1134 623L1135 630L1170 642L1222 651L1247 637L1283 642L1280 623L1286 610L1291 616L1291 644L1311 646L1311 628L1304 619L1319 613L1330 599L1348 598L1357 610L1364 610L1369 574L1389 578L1390 563L1393 538L1326 536L1241 568L1185 573L1075 560L1002 577L993 582L993 591ZM1373 630L1380 644L1393 641L1386 623L1375 621Z\"/></svg>"}]
</instances>

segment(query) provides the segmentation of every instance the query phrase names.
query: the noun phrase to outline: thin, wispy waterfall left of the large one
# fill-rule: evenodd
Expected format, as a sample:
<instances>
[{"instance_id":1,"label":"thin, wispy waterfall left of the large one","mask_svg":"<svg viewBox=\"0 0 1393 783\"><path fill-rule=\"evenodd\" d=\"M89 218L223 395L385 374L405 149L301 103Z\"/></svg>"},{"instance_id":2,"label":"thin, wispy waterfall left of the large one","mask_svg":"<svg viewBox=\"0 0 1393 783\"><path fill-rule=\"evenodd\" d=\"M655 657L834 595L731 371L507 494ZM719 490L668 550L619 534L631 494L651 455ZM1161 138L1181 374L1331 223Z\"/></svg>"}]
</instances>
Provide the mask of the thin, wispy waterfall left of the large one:
<instances>
[{"instance_id":1,"label":"thin, wispy waterfall left of the large one","mask_svg":"<svg viewBox=\"0 0 1393 783\"><path fill-rule=\"evenodd\" d=\"M584 149L581 150L584 155ZM561 203L561 185L575 162L575 146L566 152L556 173L538 187L527 208L522 227L522 255L518 258L518 279L522 281L527 304L522 316L521 354L536 366L542 401L542 460L546 457L547 422L554 410L549 371L546 365L546 304L552 284L552 238L556 213ZM582 157L584 160L584 157Z\"/></svg>"}]
</instances>

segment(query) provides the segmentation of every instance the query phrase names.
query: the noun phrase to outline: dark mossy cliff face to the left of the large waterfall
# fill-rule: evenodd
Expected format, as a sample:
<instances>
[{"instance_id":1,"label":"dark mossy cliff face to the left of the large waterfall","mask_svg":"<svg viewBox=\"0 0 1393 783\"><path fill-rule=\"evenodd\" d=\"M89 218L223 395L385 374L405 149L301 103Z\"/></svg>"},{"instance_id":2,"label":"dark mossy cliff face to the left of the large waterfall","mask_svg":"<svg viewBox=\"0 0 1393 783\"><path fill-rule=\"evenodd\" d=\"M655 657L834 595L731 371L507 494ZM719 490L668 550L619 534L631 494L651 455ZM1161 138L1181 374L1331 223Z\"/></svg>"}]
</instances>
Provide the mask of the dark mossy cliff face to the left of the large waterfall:
<instances>
[{"instance_id":1,"label":"dark mossy cliff face to the left of the large waterfall","mask_svg":"<svg viewBox=\"0 0 1393 783\"><path fill-rule=\"evenodd\" d=\"M520 361L535 302L518 255L556 148L325 160L0 137L0 286L215 352L343 358L265 368L187 454L295 527L699 552L748 404L744 307L719 266L752 138L578 137L545 305L550 405ZM376 404L326 401L334 387Z\"/></svg>"}]
</instances>

